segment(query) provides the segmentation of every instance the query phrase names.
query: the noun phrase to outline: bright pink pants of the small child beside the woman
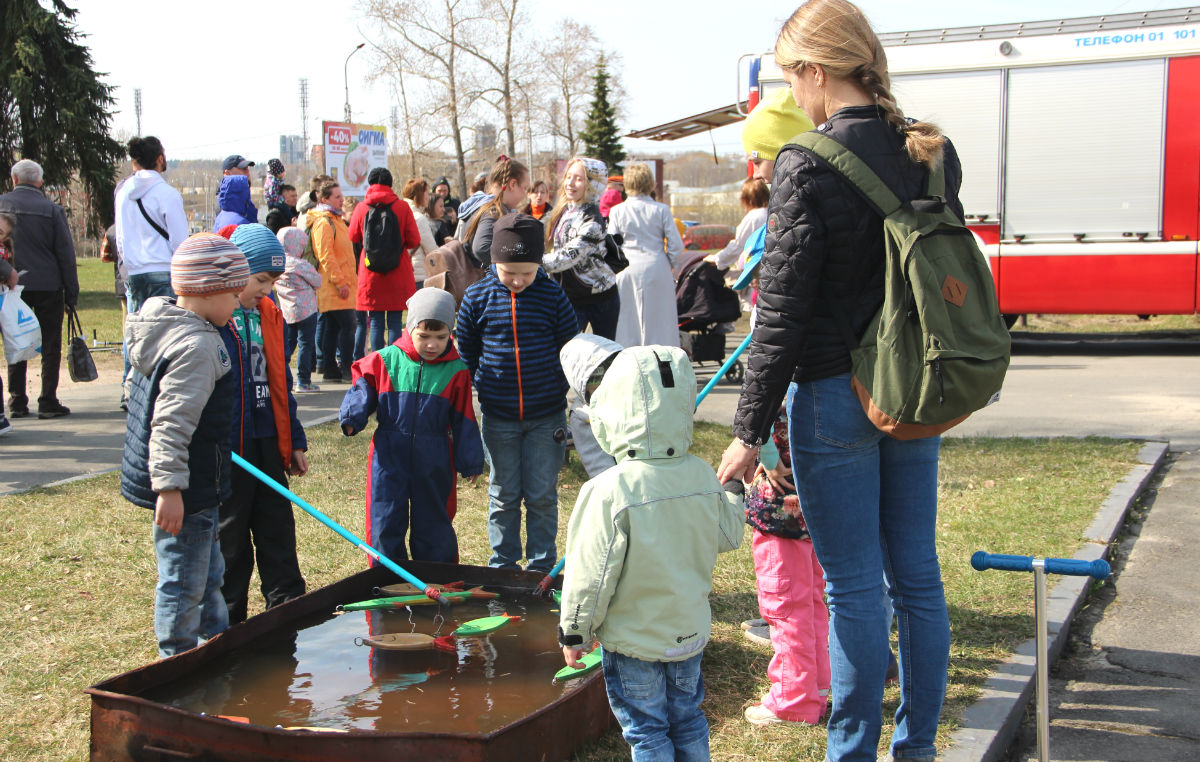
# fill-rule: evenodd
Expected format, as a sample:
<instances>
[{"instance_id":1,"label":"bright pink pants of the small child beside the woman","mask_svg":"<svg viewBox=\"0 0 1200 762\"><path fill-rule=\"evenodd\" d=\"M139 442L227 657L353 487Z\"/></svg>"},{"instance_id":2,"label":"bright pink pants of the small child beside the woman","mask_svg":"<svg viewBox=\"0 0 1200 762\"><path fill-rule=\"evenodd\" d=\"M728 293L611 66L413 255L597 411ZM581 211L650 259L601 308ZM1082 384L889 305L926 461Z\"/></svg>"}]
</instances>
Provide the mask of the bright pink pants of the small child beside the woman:
<instances>
[{"instance_id":1,"label":"bright pink pants of the small child beside the woman","mask_svg":"<svg viewBox=\"0 0 1200 762\"><path fill-rule=\"evenodd\" d=\"M754 533L758 611L770 625L775 655L762 706L793 722L821 721L829 692L829 611L824 575L811 540Z\"/></svg>"}]
</instances>

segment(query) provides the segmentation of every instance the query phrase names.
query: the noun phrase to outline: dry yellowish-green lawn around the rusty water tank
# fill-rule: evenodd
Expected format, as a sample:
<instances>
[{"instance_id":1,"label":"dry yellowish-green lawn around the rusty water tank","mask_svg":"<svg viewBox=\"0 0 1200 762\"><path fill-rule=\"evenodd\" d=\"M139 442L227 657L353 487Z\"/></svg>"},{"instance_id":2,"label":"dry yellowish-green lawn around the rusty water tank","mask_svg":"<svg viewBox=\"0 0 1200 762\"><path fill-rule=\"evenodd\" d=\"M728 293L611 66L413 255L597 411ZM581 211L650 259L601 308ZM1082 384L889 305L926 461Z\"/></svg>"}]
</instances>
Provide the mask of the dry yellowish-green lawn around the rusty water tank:
<instances>
[{"instance_id":1,"label":"dry yellowish-green lawn around the rusty water tank","mask_svg":"<svg viewBox=\"0 0 1200 762\"><path fill-rule=\"evenodd\" d=\"M342 437L332 425L310 433L312 472L293 486L342 524L362 526L368 437ZM692 452L716 463L727 427L697 424ZM1032 636L1026 575L970 569L976 550L1072 556L1097 506L1135 462L1138 445L1104 439L948 439L940 475L938 544L954 632L950 686L940 743L978 694L990 665ZM560 475L563 546L566 516L584 475L577 458ZM115 474L0 498L0 758L88 756L83 688L155 659L155 584L150 512L118 494ZM455 521L463 563L485 564L486 484L460 488ZM346 541L298 511L301 569L310 588L361 570ZM257 590L257 581L251 590ZM257 593L252 593L252 599ZM262 610L254 600L251 613ZM767 688L768 648L742 637L756 616L749 535L714 574L713 641L704 660L706 710L716 760L821 760L823 727L752 728L742 706ZM888 689L884 715L896 708ZM582 719L581 719L582 721ZM890 728L884 731L884 740ZM628 760L619 734L586 749L582 760Z\"/></svg>"}]
</instances>

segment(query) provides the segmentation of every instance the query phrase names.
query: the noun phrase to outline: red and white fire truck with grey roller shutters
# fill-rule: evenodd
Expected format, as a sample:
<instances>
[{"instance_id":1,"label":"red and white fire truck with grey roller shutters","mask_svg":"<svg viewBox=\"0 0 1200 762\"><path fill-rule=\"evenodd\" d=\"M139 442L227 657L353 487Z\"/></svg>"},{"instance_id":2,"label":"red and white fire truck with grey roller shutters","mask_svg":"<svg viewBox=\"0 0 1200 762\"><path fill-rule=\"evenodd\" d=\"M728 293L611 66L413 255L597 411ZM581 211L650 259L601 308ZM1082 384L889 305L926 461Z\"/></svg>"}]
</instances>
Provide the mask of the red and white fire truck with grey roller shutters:
<instances>
[{"instance_id":1,"label":"red and white fire truck with grey roller shutters","mask_svg":"<svg viewBox=\"0 0 1200 762\"><path fill-rule=\"evenodd\" d=\"M880 38L905 114L958 149L1003 312L1198 311L1200 10ZM752 108L786 83L744 58Z\"/></svg>"}]
</instances>

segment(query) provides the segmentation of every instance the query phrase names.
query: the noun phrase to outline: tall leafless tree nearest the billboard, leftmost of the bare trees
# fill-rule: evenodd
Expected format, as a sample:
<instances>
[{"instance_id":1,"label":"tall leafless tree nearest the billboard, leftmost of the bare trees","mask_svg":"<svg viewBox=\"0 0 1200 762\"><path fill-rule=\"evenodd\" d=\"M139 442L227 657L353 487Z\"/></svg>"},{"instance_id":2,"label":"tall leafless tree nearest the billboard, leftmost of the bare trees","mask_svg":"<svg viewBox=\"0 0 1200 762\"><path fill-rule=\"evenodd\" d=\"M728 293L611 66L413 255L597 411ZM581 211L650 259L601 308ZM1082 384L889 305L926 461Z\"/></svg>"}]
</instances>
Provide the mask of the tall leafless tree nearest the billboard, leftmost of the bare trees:
<instances>
[{"instance_id":1,"label":"tall leafless tree nearest the billboard, leftmost of the bare trees","mask_svg":"<svg viewBox=\"0 0 1200 762\"><path fill-rule=\"evenodd\" d=\"M408 61L420 58L420 62L401 67L406 74L420 77L433 84L439 108L433 113L446 119L454 143L455 163L458 169L458 192L467 191L467 163L462 145L462 122L468 106L461 101L458 90L462 76L461 38L469 26L479 20L478 2L473 0L440 0L434 10L428 2L412 0L365 0L362 10L367 18L378 22L385 37L376 47L385 52L390 60ZM420 54L419 56L406 55Z\"/></svg>"}]
</instances>

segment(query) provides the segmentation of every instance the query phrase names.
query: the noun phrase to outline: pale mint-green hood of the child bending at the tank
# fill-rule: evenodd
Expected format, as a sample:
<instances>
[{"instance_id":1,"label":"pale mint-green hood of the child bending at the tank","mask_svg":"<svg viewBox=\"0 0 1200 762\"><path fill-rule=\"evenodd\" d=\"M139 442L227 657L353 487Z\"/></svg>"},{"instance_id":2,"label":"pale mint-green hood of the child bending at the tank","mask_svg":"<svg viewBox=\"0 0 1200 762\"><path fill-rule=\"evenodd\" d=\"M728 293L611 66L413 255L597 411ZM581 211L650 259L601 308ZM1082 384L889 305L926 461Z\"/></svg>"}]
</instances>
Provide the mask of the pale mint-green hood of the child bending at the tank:
<instances>
[{"instance_id":1,"label":"pale mint-green hood of the child bending at the tank","mask_svg":"<svg viewBox=\"0 0 1200 762\"><path fill-rule=\"evenodd\" d=\"M592 431L618 463L680 458L695 412L696 373L683 349L630 347L592 395Z\"/></svg>"}]
</instances>

